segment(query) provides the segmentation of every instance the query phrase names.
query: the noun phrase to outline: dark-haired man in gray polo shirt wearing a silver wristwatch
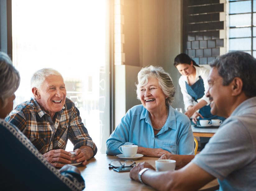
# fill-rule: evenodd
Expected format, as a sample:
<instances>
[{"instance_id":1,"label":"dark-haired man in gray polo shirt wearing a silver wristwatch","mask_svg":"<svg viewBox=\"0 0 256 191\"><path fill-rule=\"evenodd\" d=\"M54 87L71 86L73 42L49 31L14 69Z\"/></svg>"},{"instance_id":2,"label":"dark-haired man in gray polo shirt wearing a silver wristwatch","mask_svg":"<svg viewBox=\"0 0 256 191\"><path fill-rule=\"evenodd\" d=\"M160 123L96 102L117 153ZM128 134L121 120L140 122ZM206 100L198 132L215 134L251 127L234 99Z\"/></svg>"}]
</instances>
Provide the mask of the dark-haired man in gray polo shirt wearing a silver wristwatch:
<instances>
[{"instance_id":1,"label":"dark-haired man in gray polo shirt wearing a silver wristwatch","mask_svg":"<svg viewBox=\"0 0 256 191\"><path fill-rule=\"evenodd\" d=\"M148 163L130 177L158 190L197 190L214 178L220 190L256 190L256 60L230 52L210 64L211 113L227 119L196 156L163 155L177 171L156 172ZM179 169L179 170L178 170Z\"/></svg>"}]
</instances>

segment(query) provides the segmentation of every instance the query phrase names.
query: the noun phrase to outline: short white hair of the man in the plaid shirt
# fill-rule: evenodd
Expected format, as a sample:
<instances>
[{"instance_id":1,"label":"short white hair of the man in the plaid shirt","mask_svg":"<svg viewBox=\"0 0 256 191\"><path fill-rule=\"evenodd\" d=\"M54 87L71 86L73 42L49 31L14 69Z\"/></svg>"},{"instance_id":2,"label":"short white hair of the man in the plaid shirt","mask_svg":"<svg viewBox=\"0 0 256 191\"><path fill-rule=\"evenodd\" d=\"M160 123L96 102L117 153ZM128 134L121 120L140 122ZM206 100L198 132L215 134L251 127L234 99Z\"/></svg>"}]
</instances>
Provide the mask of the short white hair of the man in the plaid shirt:
<instances>
[{"instance_id":1,"label":"short white hair of the man in the plaid shirt","mask_svg":"<svg viewBox=\"0 0 256 191\"><path fill-rule=\"evenodd\" d=\"M52 68L43 68L43 69L37 70L32 75L32 78L30 81L31 89L32 88L41 89L45 78L50 75L58 75L58 76L61 76L61 78L63 79L62 75L57 70L54 70Z\"/></svg>"}]
</instances>

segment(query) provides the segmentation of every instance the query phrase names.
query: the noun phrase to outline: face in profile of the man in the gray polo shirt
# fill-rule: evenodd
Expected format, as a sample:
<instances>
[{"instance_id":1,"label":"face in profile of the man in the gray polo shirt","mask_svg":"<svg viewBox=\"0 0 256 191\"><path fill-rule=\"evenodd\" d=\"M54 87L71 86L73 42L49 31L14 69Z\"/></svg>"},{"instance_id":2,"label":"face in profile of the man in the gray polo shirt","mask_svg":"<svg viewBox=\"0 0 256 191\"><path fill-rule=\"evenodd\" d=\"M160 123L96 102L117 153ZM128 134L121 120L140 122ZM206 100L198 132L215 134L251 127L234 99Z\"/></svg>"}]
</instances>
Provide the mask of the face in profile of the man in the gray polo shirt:
<instances>
[{"instance_id":1,"label":"face in profile of the man in the gray polo shirt","mask_svg":"<svg viewBox=\"0 0 256 191\"><path fill-rule=\"evenodd\" d=\"M229 108L232 107L232 85L222 85L223 78L219 75L218 70L214 67L210 71L208 77L208 89L206 96L211 101L211 113L212 115L218 115L222 117L229 117Z\"/></svg>"}]
</instances>

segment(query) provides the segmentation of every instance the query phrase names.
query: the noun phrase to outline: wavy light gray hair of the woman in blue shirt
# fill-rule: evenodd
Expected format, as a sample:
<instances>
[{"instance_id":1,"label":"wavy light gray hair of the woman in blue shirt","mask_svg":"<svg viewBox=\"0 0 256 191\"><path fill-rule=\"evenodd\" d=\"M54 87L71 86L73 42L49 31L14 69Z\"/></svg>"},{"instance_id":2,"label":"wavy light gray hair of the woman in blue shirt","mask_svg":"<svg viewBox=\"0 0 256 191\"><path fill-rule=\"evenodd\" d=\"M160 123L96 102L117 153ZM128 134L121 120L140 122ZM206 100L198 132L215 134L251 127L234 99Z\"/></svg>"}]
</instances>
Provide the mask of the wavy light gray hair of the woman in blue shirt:
<instances>
[{"instance_id":1,"label":"wavy light gray hair of the woman in blue shirt","mask_svg":"<svg viewBox=\"0 0 256 191\"><path fill-rule=\"evenodd\" d=\"M148 83L148 79L157 79L160 88L163 93L168 97L165 99L165 105L172 105L175 95L175 87L172 83L172 78L162 67L160 66L146 66L138 73L137 86L137 98L140 99L140 88Z\"/></svg>"}]
</instances>

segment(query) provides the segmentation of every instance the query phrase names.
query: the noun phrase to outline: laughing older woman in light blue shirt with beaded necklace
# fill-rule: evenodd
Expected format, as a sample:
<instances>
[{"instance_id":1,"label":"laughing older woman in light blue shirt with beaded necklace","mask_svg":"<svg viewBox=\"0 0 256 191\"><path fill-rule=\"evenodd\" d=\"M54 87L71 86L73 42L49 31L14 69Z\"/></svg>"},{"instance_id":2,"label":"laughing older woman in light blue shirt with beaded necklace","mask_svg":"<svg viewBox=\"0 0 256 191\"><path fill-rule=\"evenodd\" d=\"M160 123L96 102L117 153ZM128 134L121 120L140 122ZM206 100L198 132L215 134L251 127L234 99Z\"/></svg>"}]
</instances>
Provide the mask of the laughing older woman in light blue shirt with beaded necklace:
<instances>
[{"instance_id":1,"label":"laughing older woman in light blue shirt with beaded necklace","mask_svg":"<svg viewBox=\"0 0 256 191\"><path fill-rule=\"evenodd\" d=\"M170 75L159 66L138 73L137 98L142 105L129 109L107 140L106 154L121 154L119 147L138 145L138 154L194 154L189 118L171 107L175 87Z\"/></svg>"}]
</instances>

